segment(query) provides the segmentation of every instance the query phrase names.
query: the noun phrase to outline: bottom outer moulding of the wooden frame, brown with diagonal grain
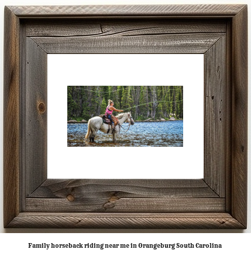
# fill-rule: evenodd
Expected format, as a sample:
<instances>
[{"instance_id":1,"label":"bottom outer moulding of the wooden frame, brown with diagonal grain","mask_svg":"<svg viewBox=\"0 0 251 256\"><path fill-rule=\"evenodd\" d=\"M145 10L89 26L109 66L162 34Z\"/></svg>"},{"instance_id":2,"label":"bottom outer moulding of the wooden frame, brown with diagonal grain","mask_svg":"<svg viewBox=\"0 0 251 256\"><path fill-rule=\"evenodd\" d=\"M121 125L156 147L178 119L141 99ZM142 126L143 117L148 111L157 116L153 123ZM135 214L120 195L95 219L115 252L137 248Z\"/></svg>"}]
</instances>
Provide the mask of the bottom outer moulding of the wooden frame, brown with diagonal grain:
<instances>
[{"instance_id":1,"label":"bottom outer moulding of the wooden frame, brown with diagonal grain","mask_svg":"<svg viewBox=\"0 0 251 256\"><path fill-rule=\"evenodd\" d=\"M19 228L243 228L228 213L20 213L8 227Z\"/></svg>"}]
</instances>

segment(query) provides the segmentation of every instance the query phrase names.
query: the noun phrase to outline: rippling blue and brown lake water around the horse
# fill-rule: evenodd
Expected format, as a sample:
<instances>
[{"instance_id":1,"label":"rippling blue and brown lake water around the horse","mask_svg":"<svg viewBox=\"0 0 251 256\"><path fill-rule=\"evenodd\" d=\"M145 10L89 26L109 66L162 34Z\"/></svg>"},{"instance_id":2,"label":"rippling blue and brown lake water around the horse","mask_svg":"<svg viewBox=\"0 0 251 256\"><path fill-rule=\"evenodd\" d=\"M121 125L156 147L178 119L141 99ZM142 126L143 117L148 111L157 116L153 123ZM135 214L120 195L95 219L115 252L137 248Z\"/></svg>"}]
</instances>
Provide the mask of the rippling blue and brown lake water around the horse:
<instances>
[{"instance_id":1,"label":"rippling blue and brown lake water around the horse","mask_svg":"<svg viewBox=\"0 0 251 256\"><path fill-rule=\"evenodd\" d=\"M127 130L128 124L123 127ZM87 123L67 124L68 147L183 147L183 120L170 122L136 122L128 132L124 130L117 142L112 134L98 131L95 143L85 140Z\"/></svg>"}]
</instances>

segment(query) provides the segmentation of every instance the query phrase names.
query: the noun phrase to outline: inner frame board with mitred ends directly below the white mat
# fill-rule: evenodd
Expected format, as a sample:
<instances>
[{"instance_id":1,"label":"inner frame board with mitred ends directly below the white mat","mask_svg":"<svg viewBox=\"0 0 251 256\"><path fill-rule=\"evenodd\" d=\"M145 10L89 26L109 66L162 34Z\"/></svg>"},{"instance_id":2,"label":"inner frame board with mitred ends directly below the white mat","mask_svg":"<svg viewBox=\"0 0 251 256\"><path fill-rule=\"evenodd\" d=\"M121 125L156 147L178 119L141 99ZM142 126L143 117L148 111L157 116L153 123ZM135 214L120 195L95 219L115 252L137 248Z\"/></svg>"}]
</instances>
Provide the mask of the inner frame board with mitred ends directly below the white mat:
<instances>
[{"instance_id":1,"label":"inner frame board with mitred ends directly below the white mat","mask_svg":"<svg viewBox=\"0 0 251 256\"><path fill-rule=\"evenodd\" d=\"M219 197L202 180L60 180L48 179L28 197L74 200L104 196L128 198L215 198Z\"/></svg>"}]
</instances>

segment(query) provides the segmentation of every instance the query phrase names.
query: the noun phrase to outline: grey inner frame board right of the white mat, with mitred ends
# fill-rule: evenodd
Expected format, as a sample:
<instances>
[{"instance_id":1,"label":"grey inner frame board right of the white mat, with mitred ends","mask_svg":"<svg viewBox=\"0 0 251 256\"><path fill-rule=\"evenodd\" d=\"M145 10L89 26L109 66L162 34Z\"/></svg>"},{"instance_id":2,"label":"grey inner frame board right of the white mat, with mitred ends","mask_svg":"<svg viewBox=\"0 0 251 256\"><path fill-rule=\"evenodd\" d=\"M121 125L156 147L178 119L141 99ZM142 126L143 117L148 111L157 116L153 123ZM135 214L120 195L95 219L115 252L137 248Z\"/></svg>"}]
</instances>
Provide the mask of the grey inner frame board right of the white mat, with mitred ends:
<instances>
[{"instance_id":1,"label":"grey inner frame board right of the white mat, with mitred ends","mask_svg":"<svg viewBox=\"0 0 251 256\"><path fill-rule=\"evenodd\" d=\"M226 188L226 37L204 55L204 180L220 197Z\"/></svg>"}]
</instances>

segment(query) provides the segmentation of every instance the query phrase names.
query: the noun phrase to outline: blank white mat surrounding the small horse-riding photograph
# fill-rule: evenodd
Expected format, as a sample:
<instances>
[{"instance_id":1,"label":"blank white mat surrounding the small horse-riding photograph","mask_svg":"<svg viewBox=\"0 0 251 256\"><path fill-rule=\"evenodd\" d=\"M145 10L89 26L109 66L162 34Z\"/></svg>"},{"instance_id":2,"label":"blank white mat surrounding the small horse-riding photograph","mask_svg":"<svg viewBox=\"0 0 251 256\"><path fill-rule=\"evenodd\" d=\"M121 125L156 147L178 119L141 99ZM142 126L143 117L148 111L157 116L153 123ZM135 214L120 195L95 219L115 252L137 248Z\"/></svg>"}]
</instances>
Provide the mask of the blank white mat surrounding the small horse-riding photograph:
<instances>
[{"instance_id":1,"label":"blank white mat surrounding the small horse-riding photograph","mask_svg":"<svg viewBox=\"0 0 251 256\"><path fill-rule=\"evenodd\" d=\"M183 86L183 147L67 147L69 85ZM48 178L203 178L203 93L202 54L48 55Z\"/></svg>"}]
</instances>

